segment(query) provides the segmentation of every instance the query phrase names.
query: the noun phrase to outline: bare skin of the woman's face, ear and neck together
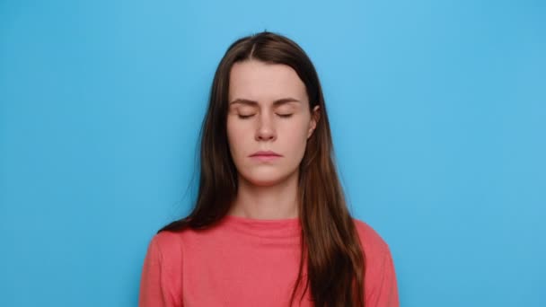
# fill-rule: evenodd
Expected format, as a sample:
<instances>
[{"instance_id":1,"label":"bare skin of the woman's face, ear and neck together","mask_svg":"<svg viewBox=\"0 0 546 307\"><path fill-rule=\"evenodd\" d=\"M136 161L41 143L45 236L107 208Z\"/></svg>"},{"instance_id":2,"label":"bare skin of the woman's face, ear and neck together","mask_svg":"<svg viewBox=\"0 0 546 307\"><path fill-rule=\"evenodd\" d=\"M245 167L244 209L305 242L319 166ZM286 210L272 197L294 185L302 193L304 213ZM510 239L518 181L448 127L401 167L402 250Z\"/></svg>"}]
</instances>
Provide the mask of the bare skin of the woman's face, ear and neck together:
<instances>
[{"instance_id":1,"label":"bare skin of the woman's face, ear and neck together","mask_svg":"<svg viewBox=\"0 0 546 307\"><path fill-rule=\"evenodd\" d=\"M228 214L297 217L299 164L320 118L319 106L309 110L305 85L290 66L257 60L233 65L229 102L227 135L239 189ZM280 156L251 157L258 151Z\"/></svg>"}]
</instances>

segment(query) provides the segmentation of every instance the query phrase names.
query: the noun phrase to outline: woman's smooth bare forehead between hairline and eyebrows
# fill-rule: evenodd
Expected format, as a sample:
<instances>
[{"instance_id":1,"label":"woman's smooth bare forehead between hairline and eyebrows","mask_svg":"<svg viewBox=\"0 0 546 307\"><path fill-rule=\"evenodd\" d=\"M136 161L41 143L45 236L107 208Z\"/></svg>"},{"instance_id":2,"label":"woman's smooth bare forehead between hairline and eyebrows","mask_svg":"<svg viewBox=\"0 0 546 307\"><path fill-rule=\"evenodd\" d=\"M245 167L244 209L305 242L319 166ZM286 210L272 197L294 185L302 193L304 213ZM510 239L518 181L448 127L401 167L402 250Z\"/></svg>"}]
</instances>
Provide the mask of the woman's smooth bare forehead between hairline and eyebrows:
<instances>
[{"instance_id":1,"label":"woman's smooth bare forehead between hairline and eyebrows","mask_svg":"<svg viewBox=\"0 0 546 307\"><path fill-rule=\"evenodd\" d=\"M305 84L292 67L255 60L233 64L228 96L229 101L248 99L260 103L286 96L307 99Z\"/></svg>"}]
</instances>

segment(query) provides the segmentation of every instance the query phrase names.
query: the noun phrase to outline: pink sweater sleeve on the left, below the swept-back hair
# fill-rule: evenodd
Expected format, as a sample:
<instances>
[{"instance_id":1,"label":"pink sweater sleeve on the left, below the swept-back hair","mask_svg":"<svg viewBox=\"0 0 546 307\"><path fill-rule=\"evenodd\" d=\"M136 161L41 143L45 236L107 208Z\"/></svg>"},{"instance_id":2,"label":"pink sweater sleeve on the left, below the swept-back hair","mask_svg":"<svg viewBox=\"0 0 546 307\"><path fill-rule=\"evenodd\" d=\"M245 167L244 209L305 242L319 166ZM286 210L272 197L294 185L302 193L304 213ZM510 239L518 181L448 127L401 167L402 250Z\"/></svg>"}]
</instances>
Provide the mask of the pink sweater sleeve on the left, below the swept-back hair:
<instances>
[{"instance_id":1,"label":"pink sweater sleeve on the left, below the swept-back hair","mask_svg":"<svg viewBox=\"0 0 546 307\"><path fill-rule=\"evenodd\" d=\"M166 275L159 236L156 234L148 244L145 254L140 277L138 307L174 307L168 296Z\"/></svg>"}]
</instances>

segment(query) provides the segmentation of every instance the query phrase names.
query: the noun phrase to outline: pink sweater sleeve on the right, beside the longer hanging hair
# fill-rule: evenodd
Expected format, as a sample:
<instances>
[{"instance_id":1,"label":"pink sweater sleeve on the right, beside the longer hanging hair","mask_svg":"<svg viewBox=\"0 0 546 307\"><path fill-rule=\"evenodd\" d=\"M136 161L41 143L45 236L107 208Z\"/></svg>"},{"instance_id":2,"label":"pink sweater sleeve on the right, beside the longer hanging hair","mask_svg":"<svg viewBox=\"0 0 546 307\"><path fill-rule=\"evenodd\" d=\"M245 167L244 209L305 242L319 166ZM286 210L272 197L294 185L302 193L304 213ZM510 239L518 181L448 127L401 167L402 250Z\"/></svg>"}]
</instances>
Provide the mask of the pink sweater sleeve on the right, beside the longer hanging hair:
<instances>
[{"instance_id":1,"label":"pink sweater sleeve on the right, beside the longer hanging hair","mask_svg":"<svg viewBox=\"0 0 546 307\"><path fill-rule=\"evenodd\" d=\"M394 272L394 262L389 248L383 252L381 265L376 271L376 280L370 289L370 295L366 306L373 307L399 307L398 285Z\"/></svg>"}]
</instances>

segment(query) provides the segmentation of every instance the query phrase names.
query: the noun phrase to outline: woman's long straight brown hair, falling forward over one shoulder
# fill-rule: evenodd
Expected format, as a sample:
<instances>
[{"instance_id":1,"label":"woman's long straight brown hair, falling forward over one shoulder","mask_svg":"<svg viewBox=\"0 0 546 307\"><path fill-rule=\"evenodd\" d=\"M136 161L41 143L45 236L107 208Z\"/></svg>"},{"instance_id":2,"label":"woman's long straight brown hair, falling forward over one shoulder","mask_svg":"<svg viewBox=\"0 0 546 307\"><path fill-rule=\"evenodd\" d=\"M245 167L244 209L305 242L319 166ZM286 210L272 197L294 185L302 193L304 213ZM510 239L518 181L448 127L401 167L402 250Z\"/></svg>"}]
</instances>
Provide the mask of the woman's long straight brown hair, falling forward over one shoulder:
<instances>
[{"instance_id":1,"label":"woman's long straight brown hair, falling forward over one shoulder","mask_svg":"<svg viewBox=\"0 0 546 307\"><path fill-rule=\"evenodd\" d=\"M226 133L230 71L249 59L292 67L305 84L309 108L320 106L320 120L307 140L300 164L298 197L302 253L290 303L302 283L304 263L313 303L318 307L364 306L365 257L348 212L334 164L330 124L321 83L310 58L293 40L263 31L237 39L216 69L201 130L198 197L189 215L158 232L203 229L221 220L237 194L237 170ZM302 294L303 297L303 294ZM300 299L301 300L301 299Z\"/></svg>"}]
</instances>

